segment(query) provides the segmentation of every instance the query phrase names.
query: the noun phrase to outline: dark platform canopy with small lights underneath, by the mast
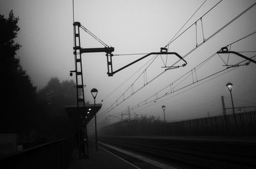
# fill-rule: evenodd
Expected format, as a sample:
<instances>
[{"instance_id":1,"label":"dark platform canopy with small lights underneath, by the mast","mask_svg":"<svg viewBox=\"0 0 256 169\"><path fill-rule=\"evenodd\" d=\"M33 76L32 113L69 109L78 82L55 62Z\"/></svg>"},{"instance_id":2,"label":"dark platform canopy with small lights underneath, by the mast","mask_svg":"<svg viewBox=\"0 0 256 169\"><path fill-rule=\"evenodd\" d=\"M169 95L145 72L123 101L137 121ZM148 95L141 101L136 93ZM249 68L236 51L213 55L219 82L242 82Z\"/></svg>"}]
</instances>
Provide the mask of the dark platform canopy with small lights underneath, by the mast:
<instances>
[{"instance_id":1,"label":"dark platform canopy with small lights underneath, by the mast","mask_svg":"<svg viewBox=\"0 0 256 169\"><path fill-rule=\"evenodd\" d=\"M82 115L86 116L86 123L90 122L92 118L94 117L97 112L99 112L100 108L102 107L102 104L89 104L85 105L85 107L79 107L76 106L68 106L65 107L65 110L68 114L68 117L72 119L74 122L79 122Z\"/></svg>"}]
</instances>

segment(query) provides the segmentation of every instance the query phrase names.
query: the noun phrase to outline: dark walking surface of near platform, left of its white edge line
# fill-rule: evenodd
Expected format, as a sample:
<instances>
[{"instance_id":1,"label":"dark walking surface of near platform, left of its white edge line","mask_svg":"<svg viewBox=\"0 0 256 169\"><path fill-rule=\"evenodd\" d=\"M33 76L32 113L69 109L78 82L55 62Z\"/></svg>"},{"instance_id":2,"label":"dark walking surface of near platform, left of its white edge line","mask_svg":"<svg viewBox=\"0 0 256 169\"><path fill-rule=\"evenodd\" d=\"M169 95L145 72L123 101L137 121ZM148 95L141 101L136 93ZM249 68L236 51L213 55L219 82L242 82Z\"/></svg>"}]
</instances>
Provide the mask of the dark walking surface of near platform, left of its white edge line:
<instances>
[{"instance_id":1,"label":"dark walking surface of near platform, left of its white edge line","mask_svg":"<svg viewBox=\"0 0 256 169\"><path fill-rule=\"evenodd\" d=\"M98 151L95 149L95 144L89 143L89 156L88 159L80 159L78 156L78 150L74 149L70 158L70 164L68 169L134 169L138 168L125 159L119 158L115 154L107 151L102 147L98 147Z\"/></svg>"}]
</instances>

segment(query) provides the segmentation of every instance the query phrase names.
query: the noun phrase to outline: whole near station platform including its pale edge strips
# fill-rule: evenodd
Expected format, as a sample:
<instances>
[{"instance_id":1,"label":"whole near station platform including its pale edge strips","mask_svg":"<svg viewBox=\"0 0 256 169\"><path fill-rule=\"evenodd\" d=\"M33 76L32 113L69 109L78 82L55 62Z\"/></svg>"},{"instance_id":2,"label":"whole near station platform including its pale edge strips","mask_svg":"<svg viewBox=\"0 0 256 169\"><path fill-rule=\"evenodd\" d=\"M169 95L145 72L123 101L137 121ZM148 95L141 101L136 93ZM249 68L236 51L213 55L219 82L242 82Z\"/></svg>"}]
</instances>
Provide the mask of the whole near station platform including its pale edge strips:
<instances>
[{"instance_id":1,"label":"whole near station platform including its pale edge strips","mask_svg":"<svg viewBox=\"0 0 256 169\"><path fill-rule=\"evenodd\" d=\"M98 142L98 151L96 151L93 142L89 142L89 147L90 158L80 159L77 150L75 150L68 169L177 169L102 142ZM110 149L112 152L109 151Z\"/></svg>"}]
</instances>

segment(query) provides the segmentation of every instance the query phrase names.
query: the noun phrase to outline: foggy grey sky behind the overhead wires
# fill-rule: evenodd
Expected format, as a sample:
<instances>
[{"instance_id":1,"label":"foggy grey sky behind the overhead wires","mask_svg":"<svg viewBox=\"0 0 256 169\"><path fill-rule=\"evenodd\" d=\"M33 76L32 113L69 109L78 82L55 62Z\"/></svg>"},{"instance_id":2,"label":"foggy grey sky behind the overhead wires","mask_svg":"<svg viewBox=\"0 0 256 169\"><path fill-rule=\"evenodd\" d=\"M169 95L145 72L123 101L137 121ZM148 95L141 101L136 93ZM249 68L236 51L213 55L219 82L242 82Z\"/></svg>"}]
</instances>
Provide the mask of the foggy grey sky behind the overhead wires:
<instances>
[{"instance_id":1,"label":"foggy grey sky behind the overhead wires","mask_svg":"<svg viewBox=\"0 0 256 169\"><path fill-rule=\"evenodd\" d=\"M19 16L19 37L17 42L22 45L18 55L20 62L27 71L33 84L38 89L44 87L51 77L58 77L60 80L75 80L74 76L69 77L69 71L74 70L73 53L73 27L72 27L72 0L6 0L0 1L1 14L8 15L10 10L14 11L15 16ZM189 17L198 9L204 1L146 1L146 0L74 0L75 20L97 35L109 46L115 47L114 54L135 54L159 52L168 41L179 31L180 27ZM208 11L218 1L206 1L202 8L186 24L183 30L193 24L206 11ZM232 18L236 17L242 11L246 10L255 1L222 1L216 8L209 12L203 20L204 38L207 39L220 27L227 24ZM143 87L140 91L120 103L118 107L108 112L101 120L113 121L115 118L107 118L110 114L119 115L127 107L134 107L141 101L161 91L166 85L172 84L184 73L195 68L196 65L204 61L207 57L220 50L221 47L239 40L244 36L256 31L256 8L255 6L237 18L232 24L221 30L220 33L209 39L203 45L186 57L188 65L184 68L168 70L156 80ZM197 22L198 43L202 43L202 26ZM169 52L177 52L181 56L187 54L195 48L195 26L182 34L169 46ZM100 43L93 40L88 34L81 31L81 46L102 47ZM250 36L244 40L232 45L234 51L255 51L256 35ZM256 52L243 53L252 57ZM125 55L113 57L113 69L124 66L125 64L138 59L142 55ZM108 77L106 56L104 53L83 54L83 73L84 84L86 84L85 98L93 103L90 94L92 88L97 88L99 94L97 103L102 103L102 109L99 116L115 101L122 96L134 80L145 70L146 64L154 55L130 66L129 68L116 73L113 77ZM221 55L224 61L227 61L227 55ZM166 56L162 56L166 61ZM147 80L154 78L161 73L164 68L161 57L157 59L147 69ZM168 56L167 66L177 61L174 55ZM229 64L243 61L236 55L230 55ZM143 68L141 68L146 64ZM177 65L182 64L179 62ZM211 61L207 62L202 68L194 73L194 80L211 75L220 71L224 63L218 55L215 55ZM139 70L138 73L131 75ZM163 119L162 105L166 105L166 119L168 121L177 121L179 119L189 119L197 117L207 117L210 115L220 115L222 113L221 95L225 96L226 107L231 107L230 93L225 84L232 82L234 89L235 107L244 107L256 105L256 65L250 63L248 66L239 66L220 77L214 78L209 82L198 85L195 83L183 90L173 92L168 96L157 99L156 103L149 103L145 106L131 110L131 113L139 115L155 115ZM144 74L143 74L144 75ZM196 77L195 77L196 76ZM131 78L129 78L131 77ZM127 80L129 78L129 80ZM143 86L145 78L134 83L134 90ZM125 80L124 85L120 86ZM207 79L209 80L209 79ZM175 88L179 89L193 81L191 77L180 82ZM195 87L198 85L197 87ZM190 89L194 87L193 89ZM116 90L115 90L116 89ZM188 90L189 89L189 90ZM112 91L113 94L108 96ZM188 91L186 91L188 90ZM131 92L131 90L129 91ZM164 91L165 92L165 91ZM168 92L168 91L166 91ZM161 95L161 93L158 93ZM162 93L163 94L163 93ZM177 95L178 94L178 95ZM125 93L129 96L128 93ZM130 94L131 95L131 94ZM106 98L106 96L108 96ZM157 96L156 96L157 97ZM101 100L104 99L103 102ZM120 101L119 101L120 102ZM118 102L118 103L119 103Z\"/></svg>"}]
</instances>

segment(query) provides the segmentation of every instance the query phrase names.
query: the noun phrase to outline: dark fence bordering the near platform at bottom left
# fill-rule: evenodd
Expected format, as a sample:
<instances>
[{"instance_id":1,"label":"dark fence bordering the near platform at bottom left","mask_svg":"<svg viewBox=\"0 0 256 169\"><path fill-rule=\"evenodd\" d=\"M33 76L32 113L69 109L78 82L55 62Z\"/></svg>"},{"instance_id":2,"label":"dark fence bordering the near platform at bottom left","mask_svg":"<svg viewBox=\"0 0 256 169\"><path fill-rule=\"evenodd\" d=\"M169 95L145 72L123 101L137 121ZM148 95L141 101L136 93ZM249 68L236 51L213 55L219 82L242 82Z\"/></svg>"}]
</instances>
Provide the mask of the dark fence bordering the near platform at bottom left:
<instances>
[{"instance_id":1,"label":"dark fence bordering the near platform at bottom left","mask_svg":"<svg viewBox=\"0 0 256 169\"><path fill-rule=\"evenodd\" d=\"M68 168L72 143L72 137L68 137L10 154L0 158L0 168Z\"/></svg>"}]
</instances>

